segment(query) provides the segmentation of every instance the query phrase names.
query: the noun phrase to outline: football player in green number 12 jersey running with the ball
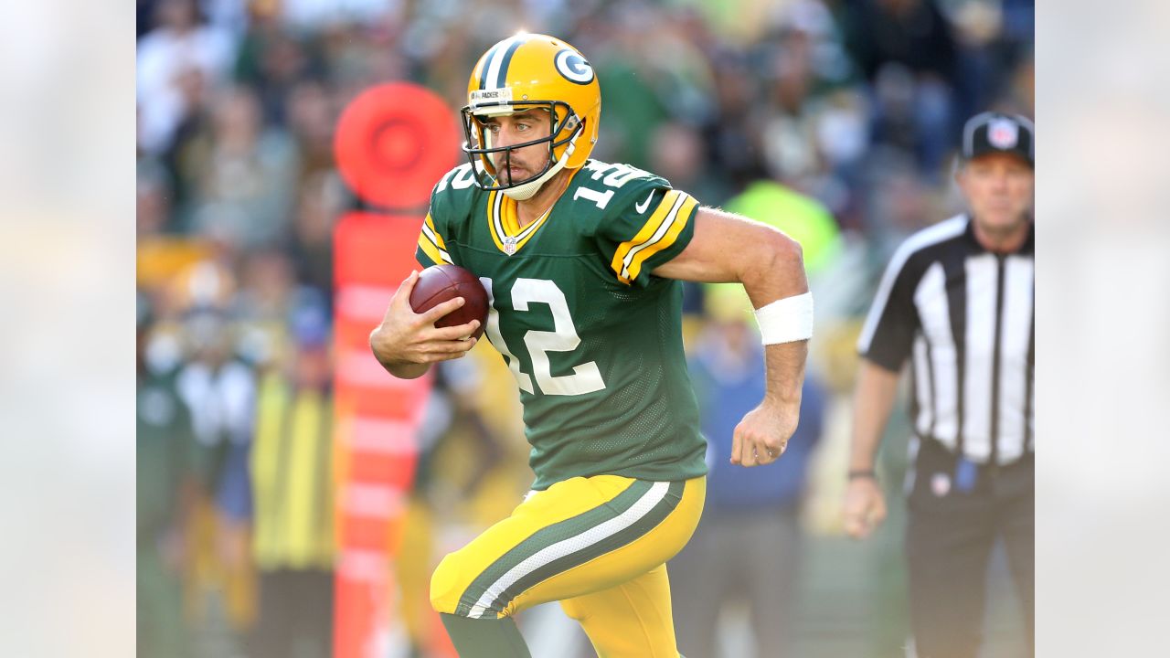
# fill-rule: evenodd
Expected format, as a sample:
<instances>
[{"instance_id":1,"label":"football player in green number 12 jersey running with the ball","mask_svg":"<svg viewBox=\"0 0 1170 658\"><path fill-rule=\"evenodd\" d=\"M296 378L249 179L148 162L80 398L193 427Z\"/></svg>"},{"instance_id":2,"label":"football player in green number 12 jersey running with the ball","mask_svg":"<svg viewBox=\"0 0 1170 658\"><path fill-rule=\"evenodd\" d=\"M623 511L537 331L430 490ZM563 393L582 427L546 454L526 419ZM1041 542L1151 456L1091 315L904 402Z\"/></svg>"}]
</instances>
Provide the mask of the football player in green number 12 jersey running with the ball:
<instances>
[{"instance_id":1,"label":"football player in green number 12 jersey running with the ball","mask_svg":"<svg viewBox=\"0 0 1170 658\"><path fill-rule=\"evenodd\" d=\"M529 656L511 616L550 601L599 656L679 654L666 562L698 523L707 472L680 280L741 282L768 345L768 392L736 429L731 461L775 461L797 426L812 335L799 245L589 159L600 114L593 68L569 43L518 34L493 46L462 109L469 162L435 185L419 235L421 265L459 265L488 290L484 335L516 378L536 473L512 514L432 577L462 657ZM417 280L370 341L405 378L463 356L477 325L433 327L462 299L415 314Z\"/></svg>"}]
</instances>

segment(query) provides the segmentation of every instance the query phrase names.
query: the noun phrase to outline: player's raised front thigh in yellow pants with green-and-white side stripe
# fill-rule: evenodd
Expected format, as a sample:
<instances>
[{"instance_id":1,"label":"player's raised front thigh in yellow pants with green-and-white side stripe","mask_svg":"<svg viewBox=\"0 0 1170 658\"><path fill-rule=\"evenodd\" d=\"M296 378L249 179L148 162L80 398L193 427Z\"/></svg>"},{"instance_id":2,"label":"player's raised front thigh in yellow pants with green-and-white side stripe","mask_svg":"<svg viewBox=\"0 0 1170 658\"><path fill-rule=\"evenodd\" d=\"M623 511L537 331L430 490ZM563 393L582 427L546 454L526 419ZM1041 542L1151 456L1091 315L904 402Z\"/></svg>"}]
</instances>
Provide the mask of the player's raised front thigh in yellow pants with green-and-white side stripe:
<instances>
[{"instance_id":1,"label":"player's raised front thigh in yellow pants with green-and-white side stripe","mask_svg":"<svg viewBox=\"0 0 1170 658\"><path fill-rule=\"evenodd\" d=\"M666 562L702 513L704 480L573 478L536 492L435 570L435 610L507 616L636 577Z\"/></svg>"}]
</instances>

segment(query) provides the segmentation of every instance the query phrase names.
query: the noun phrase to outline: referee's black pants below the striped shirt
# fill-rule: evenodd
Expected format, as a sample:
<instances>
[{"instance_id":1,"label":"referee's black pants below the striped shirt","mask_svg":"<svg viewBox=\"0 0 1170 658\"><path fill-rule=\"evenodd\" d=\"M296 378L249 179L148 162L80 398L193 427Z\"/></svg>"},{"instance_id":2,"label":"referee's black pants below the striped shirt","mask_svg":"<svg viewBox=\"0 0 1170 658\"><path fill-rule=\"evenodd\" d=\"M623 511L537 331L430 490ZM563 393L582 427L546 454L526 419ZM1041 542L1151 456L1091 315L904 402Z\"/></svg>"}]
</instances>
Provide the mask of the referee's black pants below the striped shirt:
<instances>
[{"instance_id":1,"label":"referee's black pants below the striped shirt","mask_svg":"<svg viewBox=\"0 0 1170 658\"><path fill-rule=\"evenodd\" d=\"M992 472L959 466L941 444L922 441L906 537L918 658L977 656L987 564L998 537L1026 617L1028 652L1034 651L1034 472L1031 454Z\"/></svg>"}]
</instances>

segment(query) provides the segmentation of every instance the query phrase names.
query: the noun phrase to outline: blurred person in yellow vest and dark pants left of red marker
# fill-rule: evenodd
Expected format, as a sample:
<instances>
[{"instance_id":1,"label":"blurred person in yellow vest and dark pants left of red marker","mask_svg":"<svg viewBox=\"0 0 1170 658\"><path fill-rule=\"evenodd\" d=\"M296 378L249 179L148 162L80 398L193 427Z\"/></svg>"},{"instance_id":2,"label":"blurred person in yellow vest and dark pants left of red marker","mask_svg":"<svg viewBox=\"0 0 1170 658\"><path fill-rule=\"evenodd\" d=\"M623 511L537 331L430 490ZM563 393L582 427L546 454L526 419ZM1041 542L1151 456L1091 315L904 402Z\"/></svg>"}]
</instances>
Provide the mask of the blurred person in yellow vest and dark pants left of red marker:
<instances>
[{"instance_id":1,"label":"blurred person in yellow vest and dark pants left of red marker","mask_svg":"<svg viewBox=\"0 0 1170 658\"><path fill-rule=\"evenodd\" d=\"M253 658L328 656L333 622L333 427L325 309L291 322L295 347L256 393Z\"/></svg>"}]
</instances>

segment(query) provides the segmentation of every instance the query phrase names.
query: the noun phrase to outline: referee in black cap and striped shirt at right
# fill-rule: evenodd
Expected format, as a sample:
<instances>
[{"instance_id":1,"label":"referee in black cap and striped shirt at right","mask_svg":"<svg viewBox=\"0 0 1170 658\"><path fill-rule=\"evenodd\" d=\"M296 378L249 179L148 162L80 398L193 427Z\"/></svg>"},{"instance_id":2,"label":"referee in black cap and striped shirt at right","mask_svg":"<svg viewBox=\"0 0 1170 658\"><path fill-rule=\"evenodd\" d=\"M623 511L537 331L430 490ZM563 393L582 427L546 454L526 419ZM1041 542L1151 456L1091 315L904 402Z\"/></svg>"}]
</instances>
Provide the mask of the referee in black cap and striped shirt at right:
<instances>
[{"instance_id":1,"label":"referee in black cap and striped shirt at right","mask_svg":"<svg viewBox=\"0 0 1170 658\"><path fill-rule=\"evenodd\" d=\"M918 658L973 658L989 556L1007 547L1033 637L1034 129L984 112L963 129L955 180L970 210L911 235L866 318L846 530L886 516L874 458L909 357L910 618Z\"/></svg>"}]
</instances>

